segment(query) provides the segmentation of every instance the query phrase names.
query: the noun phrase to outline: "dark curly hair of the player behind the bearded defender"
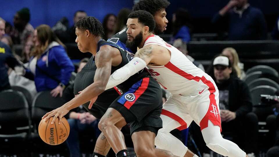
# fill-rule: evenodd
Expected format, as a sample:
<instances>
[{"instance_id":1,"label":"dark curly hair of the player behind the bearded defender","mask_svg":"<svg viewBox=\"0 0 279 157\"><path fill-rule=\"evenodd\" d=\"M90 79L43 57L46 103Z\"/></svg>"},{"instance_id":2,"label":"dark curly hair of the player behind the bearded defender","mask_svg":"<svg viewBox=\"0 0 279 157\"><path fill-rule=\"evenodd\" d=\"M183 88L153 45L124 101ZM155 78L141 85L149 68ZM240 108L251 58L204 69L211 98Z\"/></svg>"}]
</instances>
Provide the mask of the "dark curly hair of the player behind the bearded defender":
<instances>
[{"instance_id":1,"label":"dark curly hair of the player behind the bearded defender","mask_svg":"<svg viewBox=\"0 0 279 157\"><path fill-rule=\"evenodd\" d=\"M169 4L167 0L140 0L133 6L132 11L145 10L154 16L157 11L167 8Z\"/></svg>"}]
</instances>

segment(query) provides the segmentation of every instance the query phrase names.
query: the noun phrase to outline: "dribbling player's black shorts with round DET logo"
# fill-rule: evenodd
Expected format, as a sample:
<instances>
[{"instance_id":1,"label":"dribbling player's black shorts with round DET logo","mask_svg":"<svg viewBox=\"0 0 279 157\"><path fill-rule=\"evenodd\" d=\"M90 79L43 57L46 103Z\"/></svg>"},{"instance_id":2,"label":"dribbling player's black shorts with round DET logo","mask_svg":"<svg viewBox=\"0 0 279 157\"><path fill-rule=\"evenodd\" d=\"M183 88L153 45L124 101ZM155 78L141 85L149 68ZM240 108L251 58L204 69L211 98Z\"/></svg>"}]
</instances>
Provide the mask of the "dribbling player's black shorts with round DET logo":
<instances>
[{"instance_id":1,"label":"dribbling player's black shorts with round DET logo","mask_svg":"<svg viewBox=\"0 0 279 157\"><path fill-rule=\"evenodd\" d=\"M146 77L135 83L110 108L116 109L124 117L130 125L131 135L143 131L143 128L157 135L157 131L162 128L162 89L153 78ZM153 129L149 129L152 127Z\"/></svg>"}]
</instances>

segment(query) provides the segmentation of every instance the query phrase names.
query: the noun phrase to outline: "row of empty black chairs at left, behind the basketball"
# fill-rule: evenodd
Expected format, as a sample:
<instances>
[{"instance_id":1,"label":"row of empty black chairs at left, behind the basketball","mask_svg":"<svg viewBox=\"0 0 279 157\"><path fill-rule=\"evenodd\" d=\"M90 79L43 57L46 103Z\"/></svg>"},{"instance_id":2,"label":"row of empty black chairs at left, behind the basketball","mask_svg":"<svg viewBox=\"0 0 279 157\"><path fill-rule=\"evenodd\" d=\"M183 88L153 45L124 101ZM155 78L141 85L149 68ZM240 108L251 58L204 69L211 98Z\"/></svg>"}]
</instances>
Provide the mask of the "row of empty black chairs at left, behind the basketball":
<instances>
[{"instance_id":1,"label":"row of empty black chairs at left, behind the basketball","mask_svg":"<svg viewBox=\"0 0 279 157\"><path fill-rule=\"evenodd\" d=\"M39 92L31 107L22 92L16 90L0 92L0 154L7 151L42 150L51 147L39 138L37 127L45 113L62 106L65 101L60 97L52 97L49 92ZM17 150L13 149L15 145L18 146ZM51 147L51 150L55 151L61 147L66 148L65 144L62 144Z\"/></svg>"}]
</instances>

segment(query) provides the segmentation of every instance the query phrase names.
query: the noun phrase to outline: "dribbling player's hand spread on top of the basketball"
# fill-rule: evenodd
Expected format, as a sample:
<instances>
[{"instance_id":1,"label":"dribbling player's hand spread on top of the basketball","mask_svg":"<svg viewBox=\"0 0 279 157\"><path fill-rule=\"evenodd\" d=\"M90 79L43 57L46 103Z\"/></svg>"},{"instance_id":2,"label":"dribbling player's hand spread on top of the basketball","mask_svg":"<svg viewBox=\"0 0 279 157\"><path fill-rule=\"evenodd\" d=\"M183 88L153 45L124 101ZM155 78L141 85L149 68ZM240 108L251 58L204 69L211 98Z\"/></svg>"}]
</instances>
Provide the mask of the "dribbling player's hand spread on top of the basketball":
<instances>
[{"instance_id":1,"label":"dribbling player's hand spread on top of the basketball","mask_svg":"<svg viewBox=\"0 0 279 157\"><path fill-rule=\"evenodd\" d=\"M51 124L53 124L55 122L55 119L57 117L59 117L58 124L60 124L60 119L62 119L62 117L65 116L68 112L69 112L69 110L67 110L64 106L61 106L59 108L56 108L55 110L52 110L52 111L46 113L42 117L42 119L44 119L44 122L46 122L47 119L49 119L50 117L54 116L52 121L51 121Z\"/></svg>"}]
</instances>

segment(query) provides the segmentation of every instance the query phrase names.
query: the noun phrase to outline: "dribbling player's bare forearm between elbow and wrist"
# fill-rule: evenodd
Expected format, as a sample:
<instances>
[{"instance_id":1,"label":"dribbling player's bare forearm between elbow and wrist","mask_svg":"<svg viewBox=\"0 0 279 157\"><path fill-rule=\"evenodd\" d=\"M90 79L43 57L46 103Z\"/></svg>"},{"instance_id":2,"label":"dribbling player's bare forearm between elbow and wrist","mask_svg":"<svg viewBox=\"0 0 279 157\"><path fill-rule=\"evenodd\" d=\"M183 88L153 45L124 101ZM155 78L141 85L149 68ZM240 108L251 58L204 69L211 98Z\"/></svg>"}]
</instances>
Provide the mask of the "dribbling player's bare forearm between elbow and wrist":
<instances>
[{"instance_id":1,"label":"dribbling player's bare forearm between elbow and wrist","mask_svg":"<svg viewBox=\"0 0 279 157\"><path fill-rule=\"evenodd\" d=\"M65 107L68 110L71 110L73 108L76 108L82 104L87 103L92 98L100 95L102 92L105 91L105 85L94 82L91 85L89 85L87 88L85 88L80 94L78 94L76 97L71 99L71 101L67 102L65 104Z\"/></svg>"}]
</instances>

